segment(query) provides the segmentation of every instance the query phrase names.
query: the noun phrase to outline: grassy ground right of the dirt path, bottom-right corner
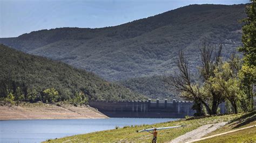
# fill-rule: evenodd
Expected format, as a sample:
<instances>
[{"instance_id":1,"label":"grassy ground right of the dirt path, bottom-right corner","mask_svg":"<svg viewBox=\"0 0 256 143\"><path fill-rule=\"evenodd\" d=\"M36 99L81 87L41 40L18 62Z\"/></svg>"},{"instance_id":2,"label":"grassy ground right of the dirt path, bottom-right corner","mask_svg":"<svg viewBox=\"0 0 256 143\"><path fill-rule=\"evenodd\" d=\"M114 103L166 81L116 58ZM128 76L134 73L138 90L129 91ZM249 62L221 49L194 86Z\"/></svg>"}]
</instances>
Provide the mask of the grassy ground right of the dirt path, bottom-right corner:
<instances>
[{"instance_id":1,"label":"grassy ground right of the dirt path, bottom-right corner","mask_svg":"<svg viewBox=\"0 0 256 143\"><path fill-rule=\"evenodd\" d=\"M231 123L217 129L207 136L224 133L239 128L256 125L256 112L244 115L238 119L231 121ZM256 141L256 127L247 128L233 133L220 135L219 137L201 140L198 142L253 142Z\"/></svg>"}]
</instances>

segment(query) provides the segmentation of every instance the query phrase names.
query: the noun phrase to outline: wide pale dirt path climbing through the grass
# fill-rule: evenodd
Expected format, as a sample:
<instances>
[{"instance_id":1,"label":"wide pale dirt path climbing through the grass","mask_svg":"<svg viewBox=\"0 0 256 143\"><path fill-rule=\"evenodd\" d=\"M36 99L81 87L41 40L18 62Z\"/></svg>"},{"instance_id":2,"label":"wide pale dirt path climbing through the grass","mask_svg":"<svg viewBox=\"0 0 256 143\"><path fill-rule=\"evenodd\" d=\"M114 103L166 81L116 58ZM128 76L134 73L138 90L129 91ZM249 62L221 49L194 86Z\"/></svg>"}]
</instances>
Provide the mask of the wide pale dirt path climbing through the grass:
<instances>
[{"instance_id":1,"label":"wide pale dirt path climbing through the grass","mask_svg":"<svg viewBox=\"0 0 256 143\"><path fill-rule=\"evenodd\" d=\"M200 139L204 135L217 130L217 128L220 128L220 127L224 126L225 124L227 124L227 122L203 125L195 130L192 130L190 132L187 132L184 135L181 135L180 137L178 137L176 139L173 139L171 142L190 142L192 140Z\"/></svg>"}]
</instances>

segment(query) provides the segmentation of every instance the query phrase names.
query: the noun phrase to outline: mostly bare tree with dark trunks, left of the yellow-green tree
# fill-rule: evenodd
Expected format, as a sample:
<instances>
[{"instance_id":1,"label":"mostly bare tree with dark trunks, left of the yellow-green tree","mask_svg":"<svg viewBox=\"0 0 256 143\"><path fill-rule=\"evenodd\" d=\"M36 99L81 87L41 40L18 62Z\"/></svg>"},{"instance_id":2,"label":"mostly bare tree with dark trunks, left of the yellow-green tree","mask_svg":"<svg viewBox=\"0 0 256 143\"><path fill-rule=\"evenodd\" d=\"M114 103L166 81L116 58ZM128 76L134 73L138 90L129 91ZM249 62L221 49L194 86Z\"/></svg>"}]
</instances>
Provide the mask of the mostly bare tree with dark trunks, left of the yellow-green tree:
<instances>
[{"instance_id":1,"label":"mostly bare tree with dark trunks, left of the yellow-green tree","mask_svg":"<svg viewBox=\"0 0 256 143\"><path fill-rule=\"evenodd\" d=\"M214 70L221 64L222 48L220 44L214 53L215 48L210 45L203 44L199 47L202 63L199 71L200 76L203 77L203 85L199 82L191 82L188 60L183 51L179 52L176 63L179 73L171 76L168 82L174 91L181 92L181 97L196 102L198 106L203 104L209 115L217 114L219 104L225 99L221 91L215 90L211 81L215 77Z\"/></svg>"}]
</instances>

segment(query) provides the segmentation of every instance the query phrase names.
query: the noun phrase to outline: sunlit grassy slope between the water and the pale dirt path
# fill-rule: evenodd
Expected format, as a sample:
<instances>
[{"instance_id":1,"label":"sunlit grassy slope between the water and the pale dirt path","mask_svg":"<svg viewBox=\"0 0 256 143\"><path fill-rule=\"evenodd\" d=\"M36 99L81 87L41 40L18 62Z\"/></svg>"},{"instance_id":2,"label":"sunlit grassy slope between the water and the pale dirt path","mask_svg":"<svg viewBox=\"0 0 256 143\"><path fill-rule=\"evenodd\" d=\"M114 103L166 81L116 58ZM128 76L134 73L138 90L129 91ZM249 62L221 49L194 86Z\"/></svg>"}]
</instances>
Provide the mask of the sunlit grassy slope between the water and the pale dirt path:
<instances>
[{"instance_id":1,"label":"sunlit grassy slope between the water and the pale dirt path","mask_svg":"<svg viewBox=\"0 0 256 143\"><path fill-rule=\"evenodd\" d=\"M114 130L100 131L88 134L74 135L72 137L60 138L56 140L51 140L50 142L103 142L103 141L134 141L134 142L150 142L152 135L147 132L137 133L137 130L143 130L144 128L153 126L153 127L163 127L163 126L177 126L177 125L186 125L185 127L173 128L169 130L159 131L158 141L170 141L174 138L179 137L186 132L192 131L201 125L219 123L221 121L230 121L237 119L244 115L244 113L239 113L238 115L224 115L224 116L212 116L201 119L193 120L178 120L171 121L169 123L159 123L154 125L142 125L136 127L126 127L118 128Z\"/></svg>"}]
</instances>

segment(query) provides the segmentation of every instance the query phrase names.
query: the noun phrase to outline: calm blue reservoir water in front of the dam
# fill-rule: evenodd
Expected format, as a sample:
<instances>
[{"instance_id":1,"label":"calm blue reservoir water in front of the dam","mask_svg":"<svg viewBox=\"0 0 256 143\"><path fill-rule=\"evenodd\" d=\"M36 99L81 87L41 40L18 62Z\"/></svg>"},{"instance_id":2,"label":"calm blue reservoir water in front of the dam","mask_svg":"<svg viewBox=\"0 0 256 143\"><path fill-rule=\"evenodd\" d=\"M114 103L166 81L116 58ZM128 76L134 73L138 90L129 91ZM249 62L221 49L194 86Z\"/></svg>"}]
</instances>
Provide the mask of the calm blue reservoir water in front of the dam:
<instances>
[{"instance_id":1,"label":"calm blue reservoir water in front of the dam","mask_svg":"<svg viewBox=\"0 0 256 143\"><path fill-rule=\"evenodd\" d=\"M0 142L41 142L116 126L163 123L173 118L108 118L62 120L1 120ZM135 132L135 131L134 131Z\"/></svg>"}]
</instances>

